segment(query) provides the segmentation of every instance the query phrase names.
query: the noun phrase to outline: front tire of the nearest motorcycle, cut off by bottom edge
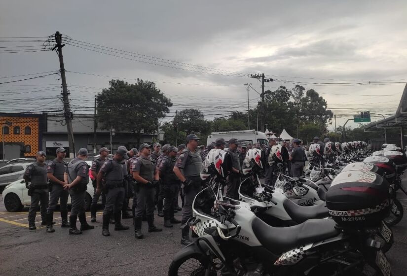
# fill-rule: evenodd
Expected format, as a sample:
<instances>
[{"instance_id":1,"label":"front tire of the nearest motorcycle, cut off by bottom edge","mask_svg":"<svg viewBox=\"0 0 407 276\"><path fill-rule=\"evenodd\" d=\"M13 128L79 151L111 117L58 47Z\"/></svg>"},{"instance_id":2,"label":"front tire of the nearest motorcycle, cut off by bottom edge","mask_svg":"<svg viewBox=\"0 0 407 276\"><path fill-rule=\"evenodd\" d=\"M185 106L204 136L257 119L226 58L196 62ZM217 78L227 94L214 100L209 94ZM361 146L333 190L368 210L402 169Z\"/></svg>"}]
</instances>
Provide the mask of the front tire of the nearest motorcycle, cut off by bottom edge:
<instances>
[{"instance_id":1,"label":"front tire of the nearest motorcycle, cut off by bottom edge","mask_svg":"<svg viewBox=\"0 0 407 276\"><path fill-rule=\"evenodd\" d=\"M177 261L173 261L168 269L168 276L205 276L208 260L199 253L193 253ZM215 269L212 269L210 276L217 276Z\"/></svg>"}]
</instances>

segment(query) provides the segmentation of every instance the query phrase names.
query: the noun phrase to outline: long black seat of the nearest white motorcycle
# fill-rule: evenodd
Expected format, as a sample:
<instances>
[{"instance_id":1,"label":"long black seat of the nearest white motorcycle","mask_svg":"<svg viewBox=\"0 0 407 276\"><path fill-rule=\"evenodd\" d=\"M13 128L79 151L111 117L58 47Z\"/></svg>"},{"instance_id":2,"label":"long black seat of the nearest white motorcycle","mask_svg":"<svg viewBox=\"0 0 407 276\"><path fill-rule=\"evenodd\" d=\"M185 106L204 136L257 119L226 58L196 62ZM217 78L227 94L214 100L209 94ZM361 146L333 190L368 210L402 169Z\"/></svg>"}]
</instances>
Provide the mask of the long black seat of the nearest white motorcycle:
<instances>
[{"instance_id":1,"label":"long black seat of the nearest white motorcycle","mask_svg":"<svg viewBox=\"0 0 407 276\"><path fill-rule=\"evenodd\" d=\"M321 242L337 236L332 219L310 219L290 227L272 227L258 217L252 221L253 232L259 242L272 253L279 255L298 246Z\"/></svg>"}]
</instances>

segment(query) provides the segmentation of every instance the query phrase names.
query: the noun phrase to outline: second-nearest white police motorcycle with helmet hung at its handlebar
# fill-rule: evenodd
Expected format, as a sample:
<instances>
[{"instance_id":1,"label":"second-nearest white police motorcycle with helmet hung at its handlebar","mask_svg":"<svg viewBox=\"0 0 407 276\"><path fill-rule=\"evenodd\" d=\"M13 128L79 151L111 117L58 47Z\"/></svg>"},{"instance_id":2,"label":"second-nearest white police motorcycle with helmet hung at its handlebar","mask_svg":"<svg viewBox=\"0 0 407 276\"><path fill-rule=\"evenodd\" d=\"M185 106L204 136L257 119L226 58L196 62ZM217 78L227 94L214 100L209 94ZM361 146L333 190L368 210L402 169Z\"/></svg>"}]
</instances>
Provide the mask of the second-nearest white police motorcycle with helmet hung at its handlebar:
<instances>
[{"instance_id":1,"label":"second-nearest white police motorcycle with helmet hung at its handlebar","mask_svg":"<svg viewBox=\"0 0 407 276\"><path fill-rule=\"evenodd\" d=\"M286 227L302 223L311 218L326 218L329 216L326 205L305 207L314 200L296 204L288 199L280 188L261 184L261 159L258 149L249 149L243 163L243 174L247 177L239 186L239 201L248 203L251 210L264 222L276 227ZM289 178L291 181L300 179Z\"/></svg>"}]
</instances>

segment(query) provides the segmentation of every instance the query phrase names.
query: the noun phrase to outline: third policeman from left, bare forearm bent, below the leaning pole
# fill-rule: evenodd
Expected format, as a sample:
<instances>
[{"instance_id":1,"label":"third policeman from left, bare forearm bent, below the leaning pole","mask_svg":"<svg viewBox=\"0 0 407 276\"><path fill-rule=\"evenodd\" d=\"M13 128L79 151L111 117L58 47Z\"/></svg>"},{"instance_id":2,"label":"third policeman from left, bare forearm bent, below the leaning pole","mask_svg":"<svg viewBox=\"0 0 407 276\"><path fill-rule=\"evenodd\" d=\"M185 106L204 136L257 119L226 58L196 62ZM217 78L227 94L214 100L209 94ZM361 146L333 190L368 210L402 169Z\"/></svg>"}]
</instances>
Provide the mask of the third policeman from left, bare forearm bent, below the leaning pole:
<instances>
[{"instance_id":1,"label":"third policeman from left, bare forearm bent, below the leaning pole","mask_svg":"<svg viewBox=\"0 0 407 276\"><path fill-rule=\"evenodd\" d=\"M89 183L89 168L86 164L88 150L80 148L75 159L69 162L64 173L65 186L71 196L71 215L69 216L69 234L79 235L82 231L94 227L86 222L85 195ZM76 219L79 218L80 230L76 228Z\"/></svg>"}]
</instances>

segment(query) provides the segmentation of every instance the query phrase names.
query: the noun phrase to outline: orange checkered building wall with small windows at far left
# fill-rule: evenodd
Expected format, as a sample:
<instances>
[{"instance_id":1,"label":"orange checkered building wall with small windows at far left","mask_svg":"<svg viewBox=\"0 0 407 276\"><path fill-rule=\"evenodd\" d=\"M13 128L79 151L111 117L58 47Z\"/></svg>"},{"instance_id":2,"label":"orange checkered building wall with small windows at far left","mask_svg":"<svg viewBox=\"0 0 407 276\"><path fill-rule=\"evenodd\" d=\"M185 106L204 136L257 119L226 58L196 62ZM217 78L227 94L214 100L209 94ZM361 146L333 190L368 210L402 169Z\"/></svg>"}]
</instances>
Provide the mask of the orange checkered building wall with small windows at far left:
<instances>
[{"instance_id":1,"label":"orange checkered building wall with small windows at far left","mask_svg":"<svg viewBox=\"0 0 407 276\"><path fill-rule=\"evenodd\" d=\"M4 135L4 142L23 142L24 145L31 145L31 152L24 153L24 156L36 155L38 149L38 118L31 117L0 117L0 142L2 141L2 126L4 122L9 121L12 125L9 128L8 134ZM20 127L20 134L14 134L14 127ZM24 134L25 127L31 128L31 134Z\"/></svg>"}]
</instances>

